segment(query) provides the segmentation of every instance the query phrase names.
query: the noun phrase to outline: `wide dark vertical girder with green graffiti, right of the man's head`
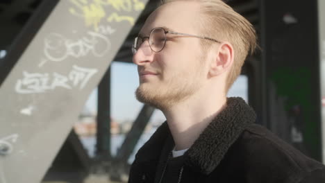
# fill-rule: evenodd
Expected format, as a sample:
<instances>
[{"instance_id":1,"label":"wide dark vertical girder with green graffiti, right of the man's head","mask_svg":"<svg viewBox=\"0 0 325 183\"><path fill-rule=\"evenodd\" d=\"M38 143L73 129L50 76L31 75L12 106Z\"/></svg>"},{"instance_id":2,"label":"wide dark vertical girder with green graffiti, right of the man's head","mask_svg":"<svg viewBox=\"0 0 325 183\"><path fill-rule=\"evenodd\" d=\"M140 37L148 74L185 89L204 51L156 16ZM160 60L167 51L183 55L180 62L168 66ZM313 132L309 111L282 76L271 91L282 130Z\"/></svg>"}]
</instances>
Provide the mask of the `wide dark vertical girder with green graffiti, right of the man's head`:
<instances>
[{"instance_id":1,"label":"wide dark vertical girder with green graffiti, right of the man's head","mask_svg":"<svg viewBox=\"0 0 325 183\"><path fill-rule=\"evenodd\" d=\"M260 12L263 123L321 161L317 1L263 0Z\"/></svg>"}]
</instances>

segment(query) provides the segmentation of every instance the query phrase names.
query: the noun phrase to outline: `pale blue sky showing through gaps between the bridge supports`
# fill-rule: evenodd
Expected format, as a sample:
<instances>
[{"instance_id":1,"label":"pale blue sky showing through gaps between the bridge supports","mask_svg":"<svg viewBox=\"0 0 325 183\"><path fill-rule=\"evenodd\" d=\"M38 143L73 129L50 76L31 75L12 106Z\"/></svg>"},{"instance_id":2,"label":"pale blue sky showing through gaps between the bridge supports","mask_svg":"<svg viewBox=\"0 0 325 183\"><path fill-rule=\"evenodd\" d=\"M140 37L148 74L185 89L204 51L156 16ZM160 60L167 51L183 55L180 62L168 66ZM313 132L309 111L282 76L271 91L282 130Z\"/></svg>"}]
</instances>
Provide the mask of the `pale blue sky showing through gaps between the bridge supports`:
<instances>
[{"instance_id":1,"label":"pale blue sky showing through gaps between the bridge supports","mask_svg":"<svg viewBox=\"0 0 325 183\"><path fill-rule=\"evenodd\" d=\"M230 89L228 96L241 96L247 101L247 77L240 76ZM138 116L143 104L135 99L135 89L139 85L138 71L135 64L113 62L111 66L111 116L117 121L133 121ZM97 89L94 89L85 107L91 112L97 111ZM151 122L165 121L160 110L155 110Z\"/></svg>"}]
</instances>

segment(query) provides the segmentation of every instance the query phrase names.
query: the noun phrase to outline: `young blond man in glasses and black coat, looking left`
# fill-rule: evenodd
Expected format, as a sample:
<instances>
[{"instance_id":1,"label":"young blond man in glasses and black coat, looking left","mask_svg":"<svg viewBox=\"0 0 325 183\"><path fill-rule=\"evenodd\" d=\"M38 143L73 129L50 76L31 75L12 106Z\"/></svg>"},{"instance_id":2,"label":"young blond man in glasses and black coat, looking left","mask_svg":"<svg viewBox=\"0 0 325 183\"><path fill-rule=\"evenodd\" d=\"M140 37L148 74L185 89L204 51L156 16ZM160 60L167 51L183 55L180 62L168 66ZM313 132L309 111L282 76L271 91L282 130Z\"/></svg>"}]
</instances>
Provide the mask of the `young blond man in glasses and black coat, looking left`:
<instances>
[{"instance_id":1,"label":"young blond man in glasses and black coat, looking left","mask_svg":"<svg viewBox=\"0 0 325 183\"><path fill-rule=\"evenodd\" d=\"M256 33L220 0L164 2L133 46L136 96L167 122L138 151L136 182L325 182L325 167L253 124L242 98L226 98Z\"/></svg>"}]
</instances>

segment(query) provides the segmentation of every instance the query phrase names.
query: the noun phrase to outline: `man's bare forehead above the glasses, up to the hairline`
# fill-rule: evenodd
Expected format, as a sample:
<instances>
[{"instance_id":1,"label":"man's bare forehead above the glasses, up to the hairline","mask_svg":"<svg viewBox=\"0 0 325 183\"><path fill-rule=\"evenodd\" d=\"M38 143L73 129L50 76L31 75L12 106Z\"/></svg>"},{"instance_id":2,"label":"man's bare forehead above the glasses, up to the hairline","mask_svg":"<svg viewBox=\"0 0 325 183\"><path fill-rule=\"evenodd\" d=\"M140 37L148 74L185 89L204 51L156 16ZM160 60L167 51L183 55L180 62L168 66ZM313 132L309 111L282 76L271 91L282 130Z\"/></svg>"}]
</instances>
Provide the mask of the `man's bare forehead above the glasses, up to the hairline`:
<instances>
[{"instance_id":1,"label":"man's bare forehead above the glasses, up to the hairline","mask_svg":"<svg viewBox=\"0 0 325 183\"><path fill-rule=\"evenodd\" d=\"M140 35L149 35L150 31L156 27L167 27L184 33L197 33L199 18L199 3L197 2L166 3L151 13L140 30Z\"/></svg>"}]
</instances>

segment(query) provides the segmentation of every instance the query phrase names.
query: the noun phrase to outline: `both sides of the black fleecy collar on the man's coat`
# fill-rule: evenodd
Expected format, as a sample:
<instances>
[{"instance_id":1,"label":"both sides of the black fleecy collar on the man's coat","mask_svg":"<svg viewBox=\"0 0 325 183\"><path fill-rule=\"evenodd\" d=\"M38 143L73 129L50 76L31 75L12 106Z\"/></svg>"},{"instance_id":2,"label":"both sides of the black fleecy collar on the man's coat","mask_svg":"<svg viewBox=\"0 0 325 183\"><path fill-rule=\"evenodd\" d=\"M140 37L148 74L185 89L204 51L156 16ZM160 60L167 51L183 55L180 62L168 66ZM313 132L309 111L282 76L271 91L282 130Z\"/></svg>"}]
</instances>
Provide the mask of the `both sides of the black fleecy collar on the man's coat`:
<instances>
[{"instance_id":1,"label":"both sides of the black fleecy collar on the man's coat","mask_svg":"<svg viewBox=\"0 0 325 183\"><path fill-rule=\"evenodd\" d=\"M210 174L247 125L255 121L255 112L242 98L227 98L224 110L211 121L184 154L185 165L190 166L194 171ZM165 122L140 148L135 161L148 162L160 159L160 162L164 162L163 159L167 159L172 148L174 148L174 141Z\"/></svg>"}]
</instances>

